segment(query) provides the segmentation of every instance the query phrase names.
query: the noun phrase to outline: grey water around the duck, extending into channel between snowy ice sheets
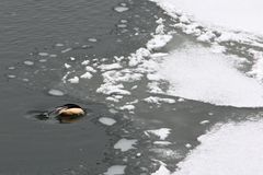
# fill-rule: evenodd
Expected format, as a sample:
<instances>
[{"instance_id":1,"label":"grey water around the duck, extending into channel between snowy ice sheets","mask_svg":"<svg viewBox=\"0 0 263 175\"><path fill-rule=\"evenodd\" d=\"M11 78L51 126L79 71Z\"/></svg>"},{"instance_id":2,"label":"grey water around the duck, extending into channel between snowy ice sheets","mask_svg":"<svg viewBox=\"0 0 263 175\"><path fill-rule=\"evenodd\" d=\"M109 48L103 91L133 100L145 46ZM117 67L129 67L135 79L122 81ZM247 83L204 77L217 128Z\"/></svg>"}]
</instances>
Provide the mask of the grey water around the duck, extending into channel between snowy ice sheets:
<instances>
[{"instance_id":1,"label":"grey water around the duck, extending into channel between snowy ice sheets","mask_svg":"<svg viewBox=\"0 0 263 175\"><path fill-rule=\"evenodd\" d=\"M118 11L116 7L123 8ZM136 105L135 115L111 113L103 96L94 93L102 81L62 84L70 70L82 72L80 63L114 56L127 56L142 47L157 26L169 18L144 0L2 0L0 2L0 174L103 174L111 165L127 165L127 175L151 174L161 160L173 171L197 137L216 122L242 120L261 109L219 107L195 101L174 105ZM164 48L173 49L188 38L178 34ZM71 59L75 58L75 61ZM142 82L144 83L144 82ZM50 89L65 92L48 94ZM138 90L138 96L147 96ZM66 103L77 103L89 114L73 124L44 122L28 115ZM100 117L117 124L105 127ZM206 125L201 121L209 120ZM153 144L144 131L171 128L171 145ZM113 149L121 138L137 139L136 149L123 153ZM186 148L190 143L192 148ZM139 153L139 154L138 154Z\"/></svg>"}]
</instances>

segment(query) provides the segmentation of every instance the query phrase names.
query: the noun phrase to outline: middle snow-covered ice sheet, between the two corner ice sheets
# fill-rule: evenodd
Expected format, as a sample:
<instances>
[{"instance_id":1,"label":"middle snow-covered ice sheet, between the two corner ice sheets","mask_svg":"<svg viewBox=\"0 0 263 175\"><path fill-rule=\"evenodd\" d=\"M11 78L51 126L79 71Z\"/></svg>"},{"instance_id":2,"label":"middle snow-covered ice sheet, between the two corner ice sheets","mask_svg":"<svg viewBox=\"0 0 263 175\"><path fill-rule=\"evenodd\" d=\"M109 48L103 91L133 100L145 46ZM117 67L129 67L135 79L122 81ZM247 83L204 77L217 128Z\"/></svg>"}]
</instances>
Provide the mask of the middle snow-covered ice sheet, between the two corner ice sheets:
<instances>
[{"instance_id":1,"label":"middle snow-covered ice sheet, between the two corner ice sheets","mask_svg":"<svg viewBox=\"0 0 263 175\"><path fill-rule=\"evenodd\" d=\"M187 46L169 55L158 73L170 83L170 95L225 106L263 106L262 84L236 69L231 60L238 59Z\"/></svg>"}]
</instances>

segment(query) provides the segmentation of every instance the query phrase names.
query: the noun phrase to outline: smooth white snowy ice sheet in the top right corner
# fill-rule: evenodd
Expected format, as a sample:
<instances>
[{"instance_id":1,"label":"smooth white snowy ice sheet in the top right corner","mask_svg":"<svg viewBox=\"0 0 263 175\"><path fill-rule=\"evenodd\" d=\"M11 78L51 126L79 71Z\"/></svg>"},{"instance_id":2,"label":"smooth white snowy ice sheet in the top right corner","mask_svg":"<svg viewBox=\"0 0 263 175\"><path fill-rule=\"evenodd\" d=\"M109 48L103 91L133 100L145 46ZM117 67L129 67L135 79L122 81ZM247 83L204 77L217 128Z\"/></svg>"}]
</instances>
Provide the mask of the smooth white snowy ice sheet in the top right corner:
<instances>
[{"instance_id":1,"label":"smooth white snowy ice sheet in the top right corner","mask_svg":"<svg viewBox=\"0 0 263 175\"><path fill-rule=\"evenodd\" d=\"M261 0L153 0L165 9L185 12L207 25L263 34Z\"/></svg>"}]
</instances>

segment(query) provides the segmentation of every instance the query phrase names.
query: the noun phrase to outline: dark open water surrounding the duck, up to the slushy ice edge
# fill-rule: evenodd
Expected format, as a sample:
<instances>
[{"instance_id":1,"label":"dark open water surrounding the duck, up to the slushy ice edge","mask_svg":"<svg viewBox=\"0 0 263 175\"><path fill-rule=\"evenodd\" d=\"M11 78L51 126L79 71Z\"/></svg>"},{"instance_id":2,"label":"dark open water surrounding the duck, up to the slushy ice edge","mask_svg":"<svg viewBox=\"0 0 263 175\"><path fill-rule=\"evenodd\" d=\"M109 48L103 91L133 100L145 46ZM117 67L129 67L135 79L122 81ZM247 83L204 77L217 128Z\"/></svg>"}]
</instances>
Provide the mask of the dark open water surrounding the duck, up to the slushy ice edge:
<instances>
[{"instance_id":1,"label":"dark open water surrounding the duck, up to the slushy ice edge","mask_svg":"<svg viewBox=\"0 0 263 175\"><path fill-rule=\"evenodd\" d=\"M103 103L79 100L73 93L50 96L47 89L60 79L61 65L70 56L81 61L84 56L127 55L147 42L156 26L155 12L146 11L145 2L127 1L129 10L118 13L113 9L119 3L119 0L0 2L0 174L93 175L114 164L107 154L121 136L114 135L117 128L108 130L96 119L116 116ZM116 27L122 19L129 22L127 33ZM141 35L135 36L138 26ZM67 48L72 50L61 54ZM38 52L57 57L48 58L43 67L36 62L41 59ZM25 60L34 61L34 67L25 66ZM45 73L35 75L45 68ZM9 79L9 74L21 79ZM65 103L78 103L91 113L70 125L46 124L27 116L30 110L46 110Z\"/></svg>"}]
</instances>

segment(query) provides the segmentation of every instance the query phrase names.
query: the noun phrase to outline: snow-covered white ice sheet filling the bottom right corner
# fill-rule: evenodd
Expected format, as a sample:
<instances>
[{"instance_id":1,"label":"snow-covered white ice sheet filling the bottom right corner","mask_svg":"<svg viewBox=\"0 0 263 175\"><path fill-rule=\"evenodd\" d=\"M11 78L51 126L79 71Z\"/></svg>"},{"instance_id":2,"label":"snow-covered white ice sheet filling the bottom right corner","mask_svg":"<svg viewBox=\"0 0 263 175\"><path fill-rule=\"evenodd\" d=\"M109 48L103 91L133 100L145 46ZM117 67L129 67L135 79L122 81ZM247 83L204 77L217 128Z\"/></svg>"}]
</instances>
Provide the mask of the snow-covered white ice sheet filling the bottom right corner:
<instances>
[{"instance_id":1,"label":"snow-covered white ice sheet filling the bottom right corner","mask_svg":"<svg viewBox=\"0 0 263 175\"><path fill-rule=\"evenodd\" d=\"M216 126L172 175L262 175L263 121Z\"/></svg>"}]
</instances>

